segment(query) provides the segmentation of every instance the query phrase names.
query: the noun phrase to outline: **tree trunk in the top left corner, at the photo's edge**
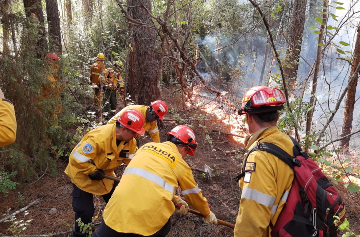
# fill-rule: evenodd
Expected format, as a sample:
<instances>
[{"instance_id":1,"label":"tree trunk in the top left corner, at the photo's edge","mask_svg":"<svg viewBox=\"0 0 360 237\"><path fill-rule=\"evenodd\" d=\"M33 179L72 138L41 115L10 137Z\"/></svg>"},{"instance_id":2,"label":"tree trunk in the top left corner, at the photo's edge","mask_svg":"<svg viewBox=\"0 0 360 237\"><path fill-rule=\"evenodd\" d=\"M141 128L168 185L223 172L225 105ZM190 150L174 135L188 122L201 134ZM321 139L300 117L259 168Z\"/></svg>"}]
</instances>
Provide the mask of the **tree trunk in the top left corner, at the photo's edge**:
<instances>
[{"instance_id":1,"label":"tree trunk in the top left corner, at the photo's edge","mask_svg":"<svg viewBox=\"0 0 360 237\"><path fill-rule=\"evenodd\" d=\"M3 25L3 53L10 54L10 14L12 13L10 0L0 0L0 17Z\"/></svg>"}]
</instances>

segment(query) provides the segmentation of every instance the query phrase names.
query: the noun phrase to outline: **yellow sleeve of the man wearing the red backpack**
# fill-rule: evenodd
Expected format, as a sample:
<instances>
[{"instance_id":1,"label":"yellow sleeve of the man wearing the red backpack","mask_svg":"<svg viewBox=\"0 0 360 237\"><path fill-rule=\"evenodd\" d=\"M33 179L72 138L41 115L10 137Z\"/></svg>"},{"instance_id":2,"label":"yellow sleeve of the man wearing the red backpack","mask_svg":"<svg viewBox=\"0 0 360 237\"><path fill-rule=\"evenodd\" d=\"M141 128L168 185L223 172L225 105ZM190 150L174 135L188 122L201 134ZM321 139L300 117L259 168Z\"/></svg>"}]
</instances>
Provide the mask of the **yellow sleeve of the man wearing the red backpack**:
<instances>
[{"instance_id":1,"label":"yellow sleeve of the man wearing the red backpack","mask_svg":"<svg viewBox=\"0 0 360 237\"><path fill-rule=\"evenodd\" d=\"M239 181L243 183L243 189L235 223L235 237L264 236L268 231L271 208L276 198L276 181L274 169L267 161L266 154L264 151L257 151L247 159L247 164L255 163L255 170Z\"/></svg>"}]
</instances>

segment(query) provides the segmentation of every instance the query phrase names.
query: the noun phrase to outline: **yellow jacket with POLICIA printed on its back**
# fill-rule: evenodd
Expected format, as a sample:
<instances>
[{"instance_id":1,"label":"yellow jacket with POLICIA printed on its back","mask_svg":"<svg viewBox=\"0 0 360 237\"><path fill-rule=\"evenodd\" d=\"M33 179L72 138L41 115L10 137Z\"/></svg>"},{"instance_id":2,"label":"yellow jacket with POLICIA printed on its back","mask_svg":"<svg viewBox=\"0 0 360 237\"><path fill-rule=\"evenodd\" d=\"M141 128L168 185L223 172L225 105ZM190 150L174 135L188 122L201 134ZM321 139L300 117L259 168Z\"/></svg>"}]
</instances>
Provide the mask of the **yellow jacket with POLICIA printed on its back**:
<instances>
[{"instance_id":1,"label":"yellow jacket with POLICIA printed on its back","mask_svg":"<svg viewBox=\"0 0 360 237\"><path fill-rule=\"evenodd\" d=\"M172 142L146 143L125 169L105 207L103 219L117 232L154 234L174 213L172 199L179 186L194 209L204 216L210 213L207 201L176 145Z\"/></svg>"}]
</instances>

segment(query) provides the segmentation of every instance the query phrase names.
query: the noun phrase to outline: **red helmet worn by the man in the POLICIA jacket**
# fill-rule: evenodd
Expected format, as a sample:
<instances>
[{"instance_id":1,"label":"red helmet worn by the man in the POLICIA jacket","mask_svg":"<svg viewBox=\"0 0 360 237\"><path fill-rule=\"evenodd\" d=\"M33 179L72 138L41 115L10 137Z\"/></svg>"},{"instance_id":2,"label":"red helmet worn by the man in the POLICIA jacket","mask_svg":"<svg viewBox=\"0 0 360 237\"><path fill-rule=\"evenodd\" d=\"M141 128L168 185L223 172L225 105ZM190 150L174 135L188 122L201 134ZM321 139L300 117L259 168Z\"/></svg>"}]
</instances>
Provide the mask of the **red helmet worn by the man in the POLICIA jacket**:
<instances>
[{"instance_id":1,"label":"red helmet worn by the man in the POLICIA jacket","mask_svg":"<svg viewBox=\"0 0 360 237\"><path fill-rule=\"evenodd\" d=\"M188 155L194 156L198 143L195 142L195 133L191 128L186 125L178 125L168 132L167 135L170 135L167 137L168 141L175 144L188 145L190 149Z\"/></svg>"}]
</instances>

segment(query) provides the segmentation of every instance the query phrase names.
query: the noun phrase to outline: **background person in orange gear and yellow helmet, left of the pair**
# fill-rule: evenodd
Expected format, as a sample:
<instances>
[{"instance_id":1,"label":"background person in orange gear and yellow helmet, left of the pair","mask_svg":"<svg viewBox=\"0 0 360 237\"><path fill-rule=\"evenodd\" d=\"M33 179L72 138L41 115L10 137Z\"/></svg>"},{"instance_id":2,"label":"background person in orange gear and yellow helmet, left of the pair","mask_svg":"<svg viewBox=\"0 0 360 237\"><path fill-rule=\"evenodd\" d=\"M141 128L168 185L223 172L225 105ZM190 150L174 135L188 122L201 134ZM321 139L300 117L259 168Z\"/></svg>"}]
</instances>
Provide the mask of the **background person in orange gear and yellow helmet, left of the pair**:
<instances>
[{"instance_id":1,"label":"background person in orange gear and yellow helmet, left of the pair","mask_svg":"<svg viewBox=\"0 0 360 237\"><path fill-rule=\"evenodd\" d=\"M105 56L103 53L99 53L96 56L96 61L90 68L90 83L95 84L94 87L94 103L95 105L101 105L101 88L100 88L100 81L99 77L101 73L103 73L105 69L104 64Z\"/></svg>"}]
</instances>

